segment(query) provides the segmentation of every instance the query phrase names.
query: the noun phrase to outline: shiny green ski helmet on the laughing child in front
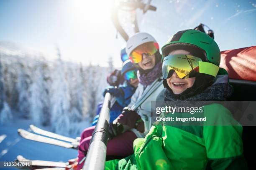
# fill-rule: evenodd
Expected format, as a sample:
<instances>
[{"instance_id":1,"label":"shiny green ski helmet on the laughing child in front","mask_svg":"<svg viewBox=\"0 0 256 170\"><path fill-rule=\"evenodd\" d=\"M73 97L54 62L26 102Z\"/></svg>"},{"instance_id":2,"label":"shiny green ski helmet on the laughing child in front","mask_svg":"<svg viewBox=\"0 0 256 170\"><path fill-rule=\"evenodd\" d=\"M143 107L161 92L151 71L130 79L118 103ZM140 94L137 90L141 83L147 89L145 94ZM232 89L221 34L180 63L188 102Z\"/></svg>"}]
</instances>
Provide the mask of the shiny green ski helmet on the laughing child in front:
<instances>
[{"instance_id":1,"label":"shiny green ski helmet on the laughing child in front","mask_svg":"<svg viewBox=\"0 0 256 170\"><path fill-rule=\"evenodd\" d=\"M214 39L199 30L179 31L161 48L162 62L169 52L182 49L182 47L184 50L190 47L198 53L195 56L203 61L203 73L216 77L220 65L220 49ZM204 55L200 55L200 52Z\"/></svg>"}]
</instances>

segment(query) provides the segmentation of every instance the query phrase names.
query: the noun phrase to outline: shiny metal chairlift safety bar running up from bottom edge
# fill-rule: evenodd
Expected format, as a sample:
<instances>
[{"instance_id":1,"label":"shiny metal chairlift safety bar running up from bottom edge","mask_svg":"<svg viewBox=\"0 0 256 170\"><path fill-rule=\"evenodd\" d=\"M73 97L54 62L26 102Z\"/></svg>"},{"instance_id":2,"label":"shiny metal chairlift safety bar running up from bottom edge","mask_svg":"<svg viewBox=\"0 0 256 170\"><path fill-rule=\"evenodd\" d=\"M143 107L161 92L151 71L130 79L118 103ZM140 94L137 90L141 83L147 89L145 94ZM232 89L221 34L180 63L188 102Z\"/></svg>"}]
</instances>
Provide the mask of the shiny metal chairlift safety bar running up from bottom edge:
<instances>
[{"instance_id":1,"label":"shiny metal chairlift safety bar running up from bottom edge","mask_svg":"<svg viewBox=\"0 0 256 170\"><path fill-rule=\"evenodd\" d=\"M100 116L92 133L83 170L104 170L107 155L108 126L110 120L110 93L106 93Z\"/></svg>"}]
</instances>

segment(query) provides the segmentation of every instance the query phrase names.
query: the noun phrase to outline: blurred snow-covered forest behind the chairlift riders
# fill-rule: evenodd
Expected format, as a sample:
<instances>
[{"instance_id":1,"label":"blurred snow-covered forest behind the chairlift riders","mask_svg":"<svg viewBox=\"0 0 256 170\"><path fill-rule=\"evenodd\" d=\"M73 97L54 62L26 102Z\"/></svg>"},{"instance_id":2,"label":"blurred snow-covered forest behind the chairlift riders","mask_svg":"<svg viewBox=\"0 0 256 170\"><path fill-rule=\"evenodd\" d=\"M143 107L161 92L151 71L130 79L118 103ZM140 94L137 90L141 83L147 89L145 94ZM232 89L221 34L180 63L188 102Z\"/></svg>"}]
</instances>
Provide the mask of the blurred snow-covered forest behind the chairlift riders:
<instances>
[{"instance_id":1,"label":"blurred snow-covered forest behind the chairlift riders","mask_svg":"<svg viewBox=\"0 0 256 170\"><path fill-rule=\"evenodd\" d=\"M106 77L113 70L43 55L10 54L0 49L0 124L14 119L49 126L55 133L80 135L96 115Z\"/></svg>"}]
</instances>

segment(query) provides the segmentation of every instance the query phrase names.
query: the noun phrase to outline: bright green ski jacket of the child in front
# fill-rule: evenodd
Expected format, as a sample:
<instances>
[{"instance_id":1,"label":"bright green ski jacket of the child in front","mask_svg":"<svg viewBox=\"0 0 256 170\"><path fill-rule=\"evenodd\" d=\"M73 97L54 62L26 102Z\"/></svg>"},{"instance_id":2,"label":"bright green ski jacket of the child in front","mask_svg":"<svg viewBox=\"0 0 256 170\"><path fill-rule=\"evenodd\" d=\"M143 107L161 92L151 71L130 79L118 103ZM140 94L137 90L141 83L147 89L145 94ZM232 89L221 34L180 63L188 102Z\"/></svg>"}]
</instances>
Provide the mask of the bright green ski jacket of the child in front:
<instances>
[{"instance_id":1,"label":"bright green ski jacket of the child in front","mask_svg":"<svg viewBox=\"0 0 256 170\"><path fill-rule=\"evenodd\" d=\"M169 114L161 114L166 117ZM174 126L156 122L133 142L134 154L105 163L106 170L244 170L242 126L220 104L204 105L204 115L219 125Z\"/></svg>"}]
</instances>

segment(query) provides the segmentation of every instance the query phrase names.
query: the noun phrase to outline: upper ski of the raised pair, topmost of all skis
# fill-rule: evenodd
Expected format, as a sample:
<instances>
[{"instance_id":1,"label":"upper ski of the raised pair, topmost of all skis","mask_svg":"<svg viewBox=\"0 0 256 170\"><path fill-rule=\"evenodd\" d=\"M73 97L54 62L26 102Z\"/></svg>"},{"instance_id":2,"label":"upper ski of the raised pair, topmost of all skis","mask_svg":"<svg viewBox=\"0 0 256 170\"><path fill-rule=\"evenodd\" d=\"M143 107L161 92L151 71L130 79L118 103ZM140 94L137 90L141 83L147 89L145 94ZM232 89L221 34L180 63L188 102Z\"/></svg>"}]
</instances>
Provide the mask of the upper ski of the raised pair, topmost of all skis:
<instances>
[{"instance_id":1,"label":"upper ski of the raised pair, topmost of all skis","mask_svg":"<svg viewBox=\"0 0 256 170\"><path fill-rule=\"evenodd\" d=\"M58 140L64 140L64 141L67 141L67 142L70 142L70 143L76 143L76 142L79 142L79 140L80 140L80 137L77 137L76 139L69 138L69 137L66 137L66 136L62 136L62 135L59 135L59 134L56 134L56 133L49 132L47 130L40 129L40 128L36 127L35 125L30 125L29 128L34 133L44 135L44 136L48 136L48 137L51 137L51 138L55 138L55 139L58 139Z\"/></svg>"}]
</instances>

